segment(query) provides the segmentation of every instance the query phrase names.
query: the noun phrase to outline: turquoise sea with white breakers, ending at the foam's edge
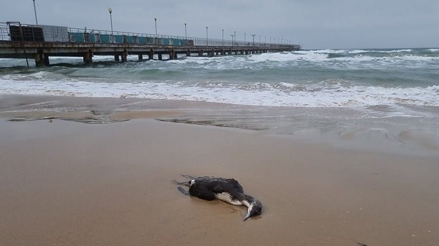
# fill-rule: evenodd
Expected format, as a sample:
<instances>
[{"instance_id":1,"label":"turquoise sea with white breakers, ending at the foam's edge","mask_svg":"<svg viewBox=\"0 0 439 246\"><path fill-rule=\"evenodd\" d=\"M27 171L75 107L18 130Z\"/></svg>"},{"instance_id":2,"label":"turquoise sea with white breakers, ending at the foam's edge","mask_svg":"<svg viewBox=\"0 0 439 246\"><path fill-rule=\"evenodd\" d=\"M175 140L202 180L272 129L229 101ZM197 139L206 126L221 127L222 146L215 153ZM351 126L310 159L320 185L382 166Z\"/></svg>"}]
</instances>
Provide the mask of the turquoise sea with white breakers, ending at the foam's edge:
<instances>
[{"instance_id":1,"label":"turquoise sea with white breakers, ending at the foam's edge","mask_svg":"<svg viewBox=\"0 0 439 246\"><path fill-rule=\"evenodd\" d=\"M319 50L116 63L0 60L0 93L134 97L238 105L439 105L439 49ZM32 61L31 61L32 63Z\"/></svg>"}]
</instances>

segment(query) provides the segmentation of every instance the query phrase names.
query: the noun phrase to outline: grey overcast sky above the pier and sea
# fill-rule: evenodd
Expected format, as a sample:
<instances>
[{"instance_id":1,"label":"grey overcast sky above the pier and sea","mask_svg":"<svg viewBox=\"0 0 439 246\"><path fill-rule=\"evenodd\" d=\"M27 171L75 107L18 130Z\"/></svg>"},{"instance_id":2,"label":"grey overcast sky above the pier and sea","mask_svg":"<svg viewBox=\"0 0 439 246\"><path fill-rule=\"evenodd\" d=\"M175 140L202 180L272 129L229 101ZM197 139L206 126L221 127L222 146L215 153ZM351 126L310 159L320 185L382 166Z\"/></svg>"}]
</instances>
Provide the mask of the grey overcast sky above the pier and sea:
<instances>
[{"instance_id":1,"label":"grey overcast sky above the pier and sea","mask_svg":"<svg viewBox=\"0 0 439 246\"><path fill-rule=\"evenodd\" d=\"M36 0L39 24L255 41L303 49L439 47L439 0ZM2 0L0 22L35 23L31 0Z\"/></svg>"}]
</instances>

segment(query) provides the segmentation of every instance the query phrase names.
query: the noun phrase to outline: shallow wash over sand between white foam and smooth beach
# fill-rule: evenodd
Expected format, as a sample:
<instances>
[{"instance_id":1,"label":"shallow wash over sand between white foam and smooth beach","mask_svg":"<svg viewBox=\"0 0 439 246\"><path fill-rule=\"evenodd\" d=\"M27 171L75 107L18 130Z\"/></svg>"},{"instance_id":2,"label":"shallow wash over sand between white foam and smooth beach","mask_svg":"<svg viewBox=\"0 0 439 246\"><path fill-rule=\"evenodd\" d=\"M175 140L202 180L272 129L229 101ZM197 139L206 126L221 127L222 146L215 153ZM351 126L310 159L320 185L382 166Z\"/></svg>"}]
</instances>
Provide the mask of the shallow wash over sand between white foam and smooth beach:
<instances>
[{"instance_id":1,"label":"shallow wash over sand between white foam and smooth beach","mask_svg":"<svg viewBox=\"0 0 439 246\"><path fill-rule=\"evenodd\" d=\"M0 95L0 117L117 123L173 123L257 130L347 150L439 158L439 107L267 107L141 98Z\"/></svg>"}]
</instances>

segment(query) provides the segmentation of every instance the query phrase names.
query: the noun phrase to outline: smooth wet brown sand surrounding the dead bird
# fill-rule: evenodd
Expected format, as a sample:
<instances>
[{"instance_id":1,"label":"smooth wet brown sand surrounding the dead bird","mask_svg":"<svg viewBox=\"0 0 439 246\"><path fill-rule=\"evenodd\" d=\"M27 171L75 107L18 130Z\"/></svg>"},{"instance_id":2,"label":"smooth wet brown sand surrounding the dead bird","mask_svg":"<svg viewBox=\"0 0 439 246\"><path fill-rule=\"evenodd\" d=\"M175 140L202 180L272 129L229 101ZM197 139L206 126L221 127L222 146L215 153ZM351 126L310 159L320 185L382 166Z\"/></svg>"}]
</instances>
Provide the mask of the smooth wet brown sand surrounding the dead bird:
<instances>
[{"instance_id":1,"label":"smooth wet brown sand surrounding the dead bird","mask_svg":"<svg viewBox=\"0 0 439 246\"><path fill-rule=\"evenodd\" d=\"M2 245L439 241L433 158L148 119L0 118L0 136ZM245 207L185 196L170 181L180 174L234 177L262 202L262 215L243 222Z\"/></svg>"}]
</instances>

